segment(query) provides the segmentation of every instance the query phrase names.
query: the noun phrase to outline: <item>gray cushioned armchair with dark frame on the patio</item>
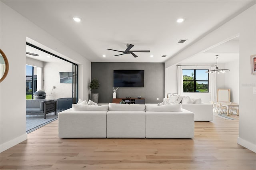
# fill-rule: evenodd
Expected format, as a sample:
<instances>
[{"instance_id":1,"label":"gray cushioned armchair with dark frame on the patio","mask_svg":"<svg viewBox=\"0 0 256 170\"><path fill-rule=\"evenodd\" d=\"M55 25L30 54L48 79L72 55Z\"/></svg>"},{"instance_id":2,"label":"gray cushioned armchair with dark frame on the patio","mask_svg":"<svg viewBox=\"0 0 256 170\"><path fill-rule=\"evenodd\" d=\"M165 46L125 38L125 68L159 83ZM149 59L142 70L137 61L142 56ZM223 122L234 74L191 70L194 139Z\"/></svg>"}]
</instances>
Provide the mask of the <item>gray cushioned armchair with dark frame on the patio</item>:
<instances>
[{"instance_id":1,"label":"gray cushioned armchair with dark frame on the patio","mask_svg":"<svg viewBox=\"0 0 256 170\"><path fill-rule=\"evenodd\" d=\"M46 114L54 112L56 113L56 101L54 100L26 100L26 115L44 115L46 119Z\"/></svg>"}]
</instances>

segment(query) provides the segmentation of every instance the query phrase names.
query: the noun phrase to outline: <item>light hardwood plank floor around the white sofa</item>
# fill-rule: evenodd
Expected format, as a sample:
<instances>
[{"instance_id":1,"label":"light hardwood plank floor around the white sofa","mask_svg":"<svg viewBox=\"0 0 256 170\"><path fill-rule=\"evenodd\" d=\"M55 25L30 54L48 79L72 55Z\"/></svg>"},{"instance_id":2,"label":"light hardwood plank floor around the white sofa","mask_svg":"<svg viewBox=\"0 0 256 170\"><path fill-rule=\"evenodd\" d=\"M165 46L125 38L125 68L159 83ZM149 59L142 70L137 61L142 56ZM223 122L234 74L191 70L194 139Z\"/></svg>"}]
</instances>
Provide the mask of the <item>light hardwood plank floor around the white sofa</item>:
<instances>
[{"instance_id":1,"label":"light hardwood plank floor around the white sofa","mask_svg":"<svg viewBox=\"0 0 256 170\"><path fill-rule=\"evenodd\" d=\"M1 170L256 170L238 145L238 121L195 122L193 139L58 138L58 121L1 153Z\"/></svg>"}]
</instances>

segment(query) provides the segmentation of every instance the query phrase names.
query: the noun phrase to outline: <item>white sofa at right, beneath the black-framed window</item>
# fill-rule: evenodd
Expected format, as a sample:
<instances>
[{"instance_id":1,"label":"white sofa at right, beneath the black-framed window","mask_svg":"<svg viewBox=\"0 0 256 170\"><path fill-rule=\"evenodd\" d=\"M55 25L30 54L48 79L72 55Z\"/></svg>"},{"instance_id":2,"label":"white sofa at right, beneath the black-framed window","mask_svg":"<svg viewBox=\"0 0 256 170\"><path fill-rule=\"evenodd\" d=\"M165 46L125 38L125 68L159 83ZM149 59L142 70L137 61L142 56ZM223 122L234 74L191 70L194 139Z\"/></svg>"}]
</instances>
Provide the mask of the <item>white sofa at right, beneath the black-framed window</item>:
<instances>
[{"instance_id":1,"label":"white sofa at right, beneath the black-framed window","mask_svg":"<svg viewBox=\"0 0 256 170\"><path fill-rule=\"evenodd\" d=\"M201 99L197 101L199 101L198 103L193 103L193 100L186 100L183 101L182 97L177 97L176 99L170 99L170 98L164 98L164 101L167 102L176 102L176 103L181 103L181 107L182 109L186 109L188 111L191 111L194 113L194 121L212 121L213 120L213 106L210 103L201 103ZM181 99L180 99L181 98ZM189 101L187 103L187 101Z\"/></svg>"}]
</instances>

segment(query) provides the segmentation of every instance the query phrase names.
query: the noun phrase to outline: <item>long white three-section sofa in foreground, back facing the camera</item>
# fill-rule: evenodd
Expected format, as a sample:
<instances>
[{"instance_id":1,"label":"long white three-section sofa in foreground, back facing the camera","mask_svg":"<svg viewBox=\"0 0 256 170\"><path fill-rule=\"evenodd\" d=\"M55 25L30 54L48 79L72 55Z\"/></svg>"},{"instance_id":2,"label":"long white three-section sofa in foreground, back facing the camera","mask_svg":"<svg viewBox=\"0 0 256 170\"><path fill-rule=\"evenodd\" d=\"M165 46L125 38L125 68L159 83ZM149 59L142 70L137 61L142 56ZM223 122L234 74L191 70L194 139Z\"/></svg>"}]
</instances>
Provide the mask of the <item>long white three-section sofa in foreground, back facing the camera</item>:
<instances>
[{"instance_id":1,"label":"long white three-section sofa in foreground, back facing the camera","mask_svg":"<svg viewBox=\"0 0 256 170\"><path fill-rule=\"evenodd\" d=\"M180 104L77 105L58 114L60 138L193 138L194 113Z\"/></svg>"}]
</instances>

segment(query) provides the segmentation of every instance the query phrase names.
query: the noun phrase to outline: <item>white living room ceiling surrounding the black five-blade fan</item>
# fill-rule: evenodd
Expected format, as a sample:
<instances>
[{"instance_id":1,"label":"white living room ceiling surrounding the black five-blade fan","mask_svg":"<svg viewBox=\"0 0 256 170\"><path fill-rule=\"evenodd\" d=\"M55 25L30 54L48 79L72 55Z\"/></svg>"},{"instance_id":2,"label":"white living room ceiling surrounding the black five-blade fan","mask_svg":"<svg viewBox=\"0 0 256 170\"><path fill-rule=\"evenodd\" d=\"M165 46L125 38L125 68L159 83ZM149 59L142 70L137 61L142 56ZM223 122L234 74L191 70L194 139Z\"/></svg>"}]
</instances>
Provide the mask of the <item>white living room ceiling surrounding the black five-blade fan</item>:
<instances>
[{"instance_id":1,"label":"white living room ceiling surrounding the black five-blade fan","mask_svg":"<svg viewBox=\"0 0 256 170\"><path fill-rule=\"evenodd\" d=\"M3 2L92 62L164 62L254 3L252 0ZM82 22L74 22L73 16L81 17ZM178 18L185 21L177 23ZM188 41L177 44L180 39ZM124 51L126 43L134 44L132 50L151 52L136 53L137 58L131 54L114 57L120 53L106 49Z\"/></svg>"}]
</instances>

